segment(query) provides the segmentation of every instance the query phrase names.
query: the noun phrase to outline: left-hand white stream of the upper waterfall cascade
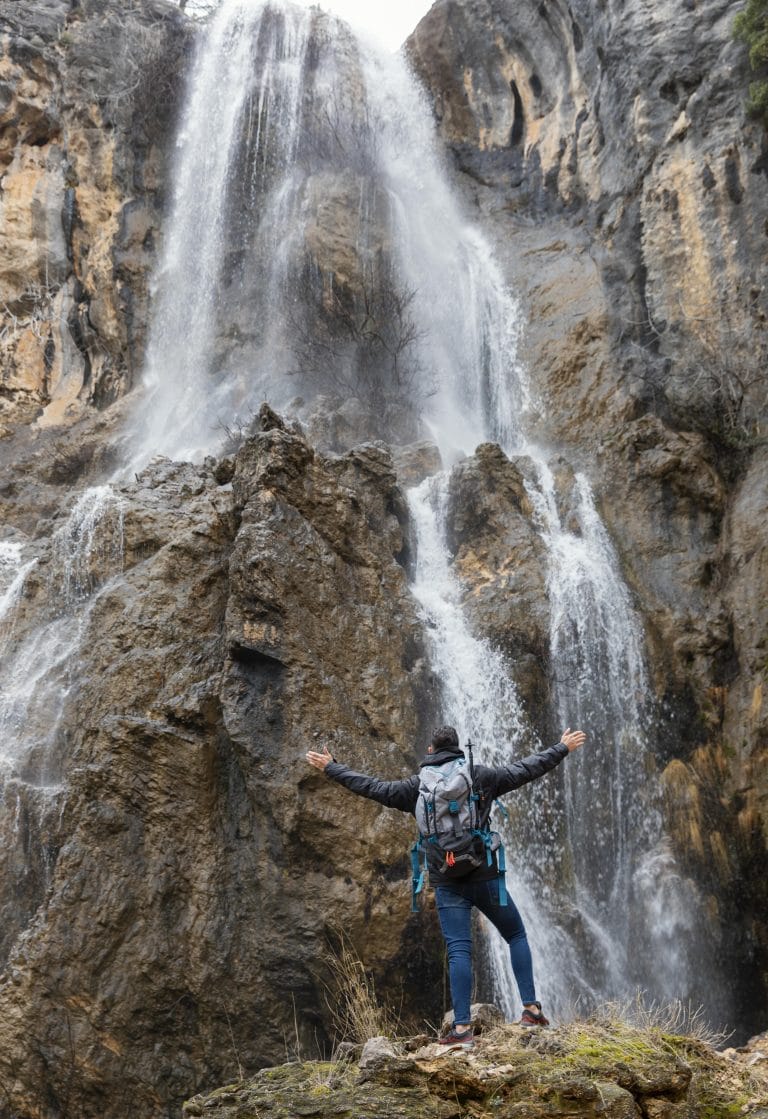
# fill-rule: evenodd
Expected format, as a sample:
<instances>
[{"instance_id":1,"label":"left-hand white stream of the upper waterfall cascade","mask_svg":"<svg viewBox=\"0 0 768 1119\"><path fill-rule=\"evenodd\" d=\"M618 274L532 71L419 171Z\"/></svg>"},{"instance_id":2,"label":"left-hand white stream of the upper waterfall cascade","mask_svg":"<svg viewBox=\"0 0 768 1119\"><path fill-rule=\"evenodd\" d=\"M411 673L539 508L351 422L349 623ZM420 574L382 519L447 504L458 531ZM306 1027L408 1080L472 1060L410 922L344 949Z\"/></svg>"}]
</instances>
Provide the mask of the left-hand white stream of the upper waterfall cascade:
<instances>
[{"instance_id":1,"label":"left-hand white stream of the upper waterfall cascade","mask_svg":"<svg viewBox=\"0 0 768 1119\"><path fill-rule=\"evenodd\" d=\"M132 469L153 454L199 457L262 399L285 403L288 276L303 239L308 170L331 142L309 117L339 84L322 43L335 34L319 11L224 0L200 39L153 285ZM245 291L240 255L257 272L253 290Z\"/></svg>"}]
</instances>

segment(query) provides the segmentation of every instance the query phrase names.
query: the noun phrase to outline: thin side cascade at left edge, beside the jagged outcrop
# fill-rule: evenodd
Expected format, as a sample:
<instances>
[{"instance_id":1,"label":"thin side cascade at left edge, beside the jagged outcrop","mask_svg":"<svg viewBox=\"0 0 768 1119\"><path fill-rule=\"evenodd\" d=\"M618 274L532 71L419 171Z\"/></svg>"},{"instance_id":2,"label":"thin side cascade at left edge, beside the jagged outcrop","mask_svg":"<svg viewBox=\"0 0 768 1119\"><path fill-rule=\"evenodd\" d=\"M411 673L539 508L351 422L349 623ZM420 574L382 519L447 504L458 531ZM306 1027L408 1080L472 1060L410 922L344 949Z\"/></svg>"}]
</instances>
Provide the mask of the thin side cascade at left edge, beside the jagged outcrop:
<instances>
[{"instance_id":1,"label":"thin side cascade at left edge, beside the jagged outcrop","mask_svg":"<svg viewBox=\"0 0 768 1119\"><path fill-rule=\"evenodd\" d=\"M22 562L21 545L0 544L0 961L48 887L66 793L60 724L93 608L122 568L122 498L94 487L40 556Z\"/></svg>"}]
</instances>

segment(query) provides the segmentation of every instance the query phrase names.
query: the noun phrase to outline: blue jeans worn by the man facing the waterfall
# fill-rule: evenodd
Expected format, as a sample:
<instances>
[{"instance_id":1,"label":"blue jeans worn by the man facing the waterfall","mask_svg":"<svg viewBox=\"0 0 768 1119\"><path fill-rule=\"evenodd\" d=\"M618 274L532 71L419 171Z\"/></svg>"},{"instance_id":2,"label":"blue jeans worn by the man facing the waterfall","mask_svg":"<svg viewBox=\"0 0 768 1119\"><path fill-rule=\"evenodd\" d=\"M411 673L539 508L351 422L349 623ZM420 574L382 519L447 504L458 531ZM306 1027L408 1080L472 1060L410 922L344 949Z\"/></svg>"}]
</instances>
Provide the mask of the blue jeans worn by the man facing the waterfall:
<instances>
[{"instance_id":1,"label":"blue jeans worn by the man facing the waterfall","mask_svg":"<svg viewBox=\"0 0 768 1119\"><path fill-rule=\"evenodd\" d=\"M535 1003L533 961L523 918L507 894L507 904L498 903L498 878L489 882L461 882L438 886L434 891L440 928L448 949L448 977L453 1002L453 1021L460 1025L471 1021L469 1000L472 993L472 906L484 913L498 929L507 944L523 1003Z\"/></svg>"}]
</instances>

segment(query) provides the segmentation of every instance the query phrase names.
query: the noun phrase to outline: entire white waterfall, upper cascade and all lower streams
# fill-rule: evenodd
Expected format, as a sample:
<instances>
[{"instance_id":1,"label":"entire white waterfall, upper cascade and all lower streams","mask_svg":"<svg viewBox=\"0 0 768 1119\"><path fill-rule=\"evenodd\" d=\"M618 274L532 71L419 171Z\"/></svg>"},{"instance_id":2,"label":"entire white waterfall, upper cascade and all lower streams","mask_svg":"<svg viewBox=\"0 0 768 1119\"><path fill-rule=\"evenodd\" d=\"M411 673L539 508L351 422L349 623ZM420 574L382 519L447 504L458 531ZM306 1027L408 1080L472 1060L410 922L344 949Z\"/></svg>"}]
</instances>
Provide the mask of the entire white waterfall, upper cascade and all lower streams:
<instances>
[{"instance_id":1,"label":"entire white waterfall, upper cascade and all lower streams","mask_svg":"<svg viewBox=\"0 0 768 1119\"><path fill-rule=\"evenodd\" d=\"M374 352L354 316L377 290L400 330ZM404 59L377 55L318 9L223 0L190 69L152 294L143 387L125 432L131 470L154 454L216 451L264 398L301 415L312 396L357 395L381 433L382 384L393 439L429 432L447 464L486 440L530 460L549 557L552 723L583 724L590 737L513 798L503 825L538 986L560 1015L636 986L706 1003L697 921L705 925L665 841L654 779L641 626L588 479L572 474L563 489L526 435L535 391L518 359L519 309L451 189ZM334 333L343 314L347 333ZM402 406L391 408L397 393ZM465 615L448 501L448 474L410 495L413 592L444 720L478 743L479 761L502 764L535 747L538 732L514 664ZM66 754L58 720L93 605L121 570L122 516L113 487L83 495L50 544L55 584L38 587L38 621L22 629L15 619L34 561L0 545L7 820L21 810L11 790L56 796ZM490 934L488 943L496 997L514 1015L505 951Z\"/></svg>"}]
</instances>

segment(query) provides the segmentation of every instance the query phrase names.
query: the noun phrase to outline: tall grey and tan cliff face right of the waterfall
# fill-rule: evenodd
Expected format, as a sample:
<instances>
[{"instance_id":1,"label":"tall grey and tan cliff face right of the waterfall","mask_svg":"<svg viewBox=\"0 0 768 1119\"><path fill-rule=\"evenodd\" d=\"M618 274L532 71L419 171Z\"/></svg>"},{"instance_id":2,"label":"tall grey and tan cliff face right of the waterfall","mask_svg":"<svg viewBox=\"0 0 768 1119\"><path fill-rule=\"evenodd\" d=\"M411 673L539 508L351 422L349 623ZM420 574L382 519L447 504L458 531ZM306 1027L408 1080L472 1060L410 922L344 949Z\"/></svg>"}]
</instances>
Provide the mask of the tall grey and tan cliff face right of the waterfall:
<instances>
[{"instance_id":1,"label":"tall grey and tan cliff face right of the waterfall","mask_svg":"<svg viewBox=\"0 0 768 1119\"><path fill-rule=\"evenodd\" d=\"M408 49L517 288L540 430L592 480L645 617L681 857L765 944L767 148L731 21L438 0ZM485 631L534 643L542 600L502 637L500 563L465 544L459 566Z\"/></svg>"}]
</instances>

